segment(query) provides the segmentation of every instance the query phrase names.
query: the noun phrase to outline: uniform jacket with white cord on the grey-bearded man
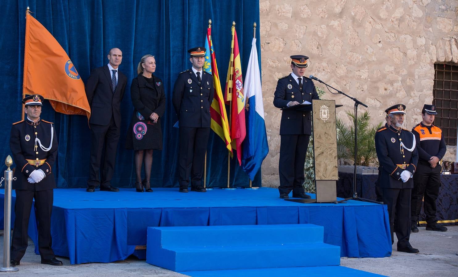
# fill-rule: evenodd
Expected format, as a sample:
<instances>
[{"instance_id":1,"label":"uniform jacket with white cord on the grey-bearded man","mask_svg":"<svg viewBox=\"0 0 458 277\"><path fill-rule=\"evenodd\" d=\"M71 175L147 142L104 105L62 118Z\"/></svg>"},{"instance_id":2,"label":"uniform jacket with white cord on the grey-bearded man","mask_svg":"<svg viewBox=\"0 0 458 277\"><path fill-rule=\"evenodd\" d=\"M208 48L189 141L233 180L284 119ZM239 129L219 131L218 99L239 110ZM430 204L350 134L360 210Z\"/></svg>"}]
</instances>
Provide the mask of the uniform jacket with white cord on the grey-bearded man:
<instances>
[{"instance_id":1,"label":"uniform jacket with white cord on the grey-bearded man","mask_svg":"<svg viewBox=\"0 0 458 277\"><path fill-rule=\"evenodd\" d=\"M405 147L401 146L401 142ZM418 151L415 146L414 134L406 129L397 130L390 126L377 131L375 135L375 149L377 158L382 167L380 186L384 188L413 188L414 179L407 182L401 180L401 173L408 170L415 174L418 163ZM399 166L398 166L399 165ZM405 167L405 168L403 168Z\"/></svg>"}]
</instances>

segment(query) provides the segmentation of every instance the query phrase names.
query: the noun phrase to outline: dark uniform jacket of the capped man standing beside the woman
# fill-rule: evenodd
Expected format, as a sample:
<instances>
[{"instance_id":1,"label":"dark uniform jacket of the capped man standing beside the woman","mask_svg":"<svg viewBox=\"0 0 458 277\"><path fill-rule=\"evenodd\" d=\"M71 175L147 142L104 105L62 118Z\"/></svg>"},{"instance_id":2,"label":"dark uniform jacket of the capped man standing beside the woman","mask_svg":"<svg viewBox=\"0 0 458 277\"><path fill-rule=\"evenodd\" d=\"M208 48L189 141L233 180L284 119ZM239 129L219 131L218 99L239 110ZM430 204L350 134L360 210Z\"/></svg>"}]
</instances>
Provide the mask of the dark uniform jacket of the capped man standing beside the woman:
<instances>
[{"instance_id":1,"label":"dark uniform jacket of the capped man standing beside the woman","mask_svg":"<svg viewBox=\"0 0 458 277\"><path fill-rule=\"evenodd\" d=\"M172 103L180 127L210 127L213 77L202 70L201 84L192 69L181 72L175 81Z\"/></svg>"}]
</instances>

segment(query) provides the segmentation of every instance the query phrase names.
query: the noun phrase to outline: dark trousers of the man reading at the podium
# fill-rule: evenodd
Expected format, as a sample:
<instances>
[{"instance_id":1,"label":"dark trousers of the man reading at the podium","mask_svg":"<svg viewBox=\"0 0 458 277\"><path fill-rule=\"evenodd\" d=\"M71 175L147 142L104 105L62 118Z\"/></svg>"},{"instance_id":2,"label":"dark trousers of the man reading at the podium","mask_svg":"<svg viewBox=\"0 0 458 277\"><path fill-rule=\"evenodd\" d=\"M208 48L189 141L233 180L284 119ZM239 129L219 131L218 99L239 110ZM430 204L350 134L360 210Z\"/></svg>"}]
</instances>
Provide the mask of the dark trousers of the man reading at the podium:
<instances>
[{"instance_id":1,"label":"dark trousers of the man reading at the podium","mask_svg":"<svg viewBox=\"0 0 458 277\"><path fill-rule=\"evenodd\" d=\"M278 174L280 176L280 193L304 192L304 164L310 135L281 135L280 160Z\"/></svg>"}]
</instances>

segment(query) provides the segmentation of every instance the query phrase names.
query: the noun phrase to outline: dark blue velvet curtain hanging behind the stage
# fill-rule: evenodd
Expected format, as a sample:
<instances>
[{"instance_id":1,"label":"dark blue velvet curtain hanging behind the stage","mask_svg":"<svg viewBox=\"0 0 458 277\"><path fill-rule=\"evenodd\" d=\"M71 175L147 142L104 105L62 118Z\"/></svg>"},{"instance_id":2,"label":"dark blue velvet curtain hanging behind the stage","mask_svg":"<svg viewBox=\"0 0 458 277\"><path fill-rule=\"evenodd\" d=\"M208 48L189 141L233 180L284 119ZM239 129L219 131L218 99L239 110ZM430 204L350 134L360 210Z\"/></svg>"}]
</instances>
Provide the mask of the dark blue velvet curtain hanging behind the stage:
<instances>
[{"instance_id":1,"label":"dark blue velvet curtain hanging behind the stage","mask_svg":"<svg viewBox=\"0 0 458 277\"><path fill-rule=\"evenodd\" d=\"M110 48L120 48L123 53L120 71L127 75L128 83L121 104L123 122L112 181L119 187L132 187L135 179L133 151L124 149L124 145L133 111L130 85L137 75L140 58L145 54L156 56L155 75L163 80L167 97L162 118L164 149L153 154L151 183L159 187L178 186L178 129L172 127L177 117L170 100L177 75L191 68L187 49L204 46L208 19L212 19L212 40L224 86L232 21L236 22L244 74L251 50L253 22L259 26L258 0L18 0L2 4L0 86L5 108L0 123L0 159L11 154L11 123L21 120L25 11L29 6L32 15L67 52L83 81L91 69L108 64L106 57ZM259 38L259 28L256 37ZM261 53L259 40L257 44ZM49 103L44 106L42 118L54 122L58 134L59 155L54 168L57 186L85 187L90 145L87 118L56 113ZM226 186L227 163L223 141L211 132L207 186ZM249 178L236 165L236 159L231 160L230 166L231 186L248 186ZM258 173L253 186L260 185Z\"/></svg>"}]
</instances>

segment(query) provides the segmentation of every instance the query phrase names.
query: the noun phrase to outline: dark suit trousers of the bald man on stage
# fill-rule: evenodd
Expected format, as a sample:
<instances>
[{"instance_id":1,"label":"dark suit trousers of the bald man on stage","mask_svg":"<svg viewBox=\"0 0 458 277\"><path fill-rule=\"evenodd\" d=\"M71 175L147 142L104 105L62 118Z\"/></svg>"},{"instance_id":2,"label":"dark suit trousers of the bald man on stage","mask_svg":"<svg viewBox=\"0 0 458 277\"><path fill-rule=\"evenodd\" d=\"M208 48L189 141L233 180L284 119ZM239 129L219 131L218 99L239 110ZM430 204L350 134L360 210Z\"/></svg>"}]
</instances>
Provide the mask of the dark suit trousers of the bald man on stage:
<instances>
[{"instance_id":1,"label":"dark suit trousers of the bald man on stage","mask_svg":"<svg viewBox=\"0 0 458 277\"><path fill-rule=\"evenodd\" d=\"M111 185L111 179L113 178L120 128L116 127L113 117L111 117L109 125L90 124L90 127L91 157L89 160L89 180L87 181L87 186L97 187L100 185L107 187ZM104 163L100 170L100 161L104 146Z\"/></svg>"}]
</instances>

